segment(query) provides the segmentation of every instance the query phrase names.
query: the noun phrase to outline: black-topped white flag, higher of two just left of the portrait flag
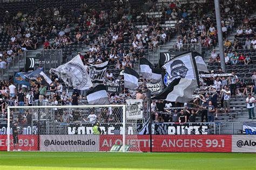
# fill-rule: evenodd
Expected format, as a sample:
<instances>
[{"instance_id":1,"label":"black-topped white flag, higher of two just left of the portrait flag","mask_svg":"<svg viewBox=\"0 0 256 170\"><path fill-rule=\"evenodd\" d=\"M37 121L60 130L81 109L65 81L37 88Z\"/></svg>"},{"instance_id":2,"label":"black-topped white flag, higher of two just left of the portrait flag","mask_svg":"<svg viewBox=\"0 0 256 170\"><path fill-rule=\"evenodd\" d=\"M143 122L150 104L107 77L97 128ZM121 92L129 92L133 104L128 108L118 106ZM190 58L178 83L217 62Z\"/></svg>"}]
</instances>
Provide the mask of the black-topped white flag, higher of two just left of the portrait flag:
<instances>
[{"instance_id":1,"label":"black-topped white flag, higher of two just left of the portrait flag","mask_svg":"<svg viewBox=\"0 0 256 170\"><path fill-rule=\"evenodd\" d=\"M152 69L154 66L145 58L139 59L140 72L142 72L143 79L152 79Z\"/></svg>"}]
</instances>

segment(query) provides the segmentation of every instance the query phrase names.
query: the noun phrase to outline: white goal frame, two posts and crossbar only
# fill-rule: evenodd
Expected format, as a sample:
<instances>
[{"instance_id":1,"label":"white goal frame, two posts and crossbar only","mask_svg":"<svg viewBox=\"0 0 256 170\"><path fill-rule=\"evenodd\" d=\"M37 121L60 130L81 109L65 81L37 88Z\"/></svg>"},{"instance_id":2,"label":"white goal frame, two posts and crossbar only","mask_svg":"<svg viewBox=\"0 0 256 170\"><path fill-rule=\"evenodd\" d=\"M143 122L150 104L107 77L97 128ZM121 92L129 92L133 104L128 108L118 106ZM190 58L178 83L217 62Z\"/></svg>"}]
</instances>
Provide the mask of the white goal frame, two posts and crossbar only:
<instances>
[{"instance_id":1,"label":"white goal frame, two posts and crossbar only","mask_svg":"<svg viewBox=\"0 0 256 170\"><path fill-rule=\"evenodd\" d=\"M23 106L23 107L8 107L8 121L7 121L7 151L10 151L10 133L11 133L11 128L10 128L10 112L11 109L38 109L38 108L103 108L103 107L116 107L116 108L123 108L123 152L125 152L125 123L126 123L126 105L125 104L120 104L120 105L59 105L59 106Z\"/></svg>"}]
</instances>

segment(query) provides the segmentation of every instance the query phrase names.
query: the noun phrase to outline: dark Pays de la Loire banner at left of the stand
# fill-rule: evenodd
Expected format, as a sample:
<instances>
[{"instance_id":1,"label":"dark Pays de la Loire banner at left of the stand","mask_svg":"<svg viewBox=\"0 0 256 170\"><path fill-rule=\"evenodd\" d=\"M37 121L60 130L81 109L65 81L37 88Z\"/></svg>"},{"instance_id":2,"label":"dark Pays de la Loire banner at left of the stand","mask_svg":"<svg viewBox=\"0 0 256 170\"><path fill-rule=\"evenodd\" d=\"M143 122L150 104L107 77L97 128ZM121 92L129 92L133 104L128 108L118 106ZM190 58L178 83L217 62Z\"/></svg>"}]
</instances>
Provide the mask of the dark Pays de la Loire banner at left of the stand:
<instances>
[{"instance_id":1,"label":"dark Pays de la Loire banner at left of the stand","mask_svg":"<svg viewBox=\"0 0 256 170\"><path fill-rule=\"evenodd\" d=\"M26 71L38 68L39 66L44 67L46 70L50 70L51 68L57 68L62 64L61 56L55 55L36 55L33 57L26 58Z\"/></svg>"}]
</instances>

